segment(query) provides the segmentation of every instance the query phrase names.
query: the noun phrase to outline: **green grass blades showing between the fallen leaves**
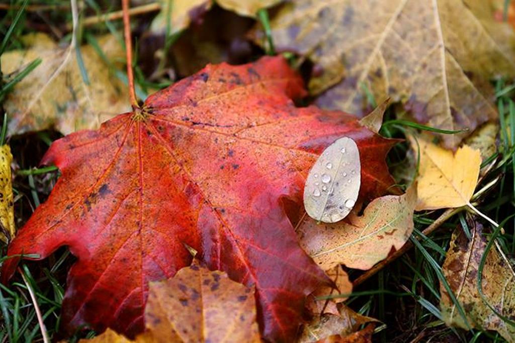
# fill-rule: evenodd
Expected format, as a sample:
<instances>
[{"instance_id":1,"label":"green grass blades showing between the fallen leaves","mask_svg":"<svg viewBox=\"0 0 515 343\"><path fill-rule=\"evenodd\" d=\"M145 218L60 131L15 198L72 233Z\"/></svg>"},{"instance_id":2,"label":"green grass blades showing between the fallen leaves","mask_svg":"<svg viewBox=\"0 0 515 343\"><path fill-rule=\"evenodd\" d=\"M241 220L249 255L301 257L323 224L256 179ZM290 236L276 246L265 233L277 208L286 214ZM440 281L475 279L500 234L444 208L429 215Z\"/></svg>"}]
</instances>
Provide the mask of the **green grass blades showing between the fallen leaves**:
<instances>
[{"instance_id":1,"label":"green grass blades showing between the fallen leaves","mask_svg":"<svg viewBox=\"0 0 515 343\"><path fill-rule=\"evenodd\" d=\"M55 1L54 3L65 4L67 2ZM28 31L24 23L31 20L31 17L23 11L27 1L15 2L21 5L22 9L9 10L2 20L0 20L0 32L7 37L0 46L1 52L13 48L23 47L19 37L23 32ZM98 15L105 11L105 4L99 5L94 0L85 2L87 8ZM104 8L104 10L102 10ZM61 20L71 22L71 16L63 12ZM269 55L275 53L273 40L271 39L269 19L267 11L260 11L259 20L265 28L267 50ZM169 14L168 14L169 15ZM95 34L101 32L116 33L119 23L104 22L93 28L84 29L79 42L84 41L98 48ZM167 46L176 42L177 35L170 34L171 28L166 28ZM65 37L70 40L71 37ZM79 50L77 50L79 51ZM103 56L100 48L97 49L99 56ZM80 64L80 52L76 54ZM103 56L104 61L111 66L112 72L118 78L127 80L124 71L117 70L111 61ZM290 56L290 59L293 57ZM164 61L164 60L161 60ZM160 69L165 62L160 63ZM32 70L38 67L40 60L35 60L12 76L4 76L0 83L0 104L12 87L29 75ZM88 82L91 75L85 67L81 66L84 82ZM144 99L150 89L162 88L170 84L169 80L149 80L143 71L136 67L136 82L139 88L136 90L138 96ZM370 92L362 85L362 90L367 96L370 104L375 100ZM500 116L499 125L501 127L501 139L498 153L488 158L484 166L493 163L494 166L488 176L478 185L477 190L484 186L493 184L485 193L479 196L478 208L493 218L496 222L504 222L504 233L501 230L493 230L490 234L491 248L495 241L499 243L505 254L509 257L515 256L515 219L508 218L504 213L512 213L515 204L515 105L513 95L515 94L515 84L509 84L503 80L496 81L495 94L497 97L497 109ZM401 113L396 113L390 108L385 115L385 122L381 133L387 137L404 138L409 130L426 130L442 134L453 134L456 132L438 130L424 125L415 124L398 119ZM6 120L4 118L2 126L1 140L6 139ZM10 137L9 143L12 147L14 158L19 164L14 180L15 194L15 216L18 227L29 218L33 209L44 202L49 192L55 185L59 177L56 167L35 168L43 153L48 148L49 143L59 138L60 135L53 131L45 131L38 134L29 134L20 137ZM406 142L398 144L388 156L388 163L392 170L415 165L414 172L410 175L398 176L398 183L406 188L418 170L417 156L413 156L408 149ZM415 230L410 240L414 248L408 251L397 261L386 266L380 273L376 274L365 283L356 288L349 296L346 304L355 311L381 320L384 324L377 326L375 339L381 342L405 342L421 338L423 341L456 341L456 342L503 342L504 340L496 333L478 330L463 331L445 326L439 310L440 302L440 283L449 292L449 285L445 282L442 275L441 266L445 259L452 230L460 226L468 237L470 229L467 224L467 216L470 214L464 209L453 215L440 228L428 235L422 234L424 228L431 225L441 214L442 211L427 211L417 213L415 216ZM0 261L3 262L6 256L6 245L0 244ZM485 255L486 256L486 255ZM0 284L0 310L2 321L0 322L0 343L21 342L21 341L42 341L41 328L36 315L36 308L29 293L29 287L35 295L37 304L44 319L46 331L50 338L58 337L60 324L60 309L65 293L66 274L75 258L66 248L61 248L55 254L45 260L31 262L25 260L20 264L20 270L8 285ZM484 259L480 266L482 273ZM361 272L349 270L351 278L355 278ZM23 275L23 278L22 278ZM25 281L24 281L25 279ZM480 287L480 284L478 284ZM452 292L449 292L452 294ZM460 315L464 315L461 306L457 306ZM508 318L505 318L508 319ZM508 319L509 320L509 319ZM91 337L94 332L77 334L71 338L76 341L81 336Z\"/></svg>"}]
</instances>

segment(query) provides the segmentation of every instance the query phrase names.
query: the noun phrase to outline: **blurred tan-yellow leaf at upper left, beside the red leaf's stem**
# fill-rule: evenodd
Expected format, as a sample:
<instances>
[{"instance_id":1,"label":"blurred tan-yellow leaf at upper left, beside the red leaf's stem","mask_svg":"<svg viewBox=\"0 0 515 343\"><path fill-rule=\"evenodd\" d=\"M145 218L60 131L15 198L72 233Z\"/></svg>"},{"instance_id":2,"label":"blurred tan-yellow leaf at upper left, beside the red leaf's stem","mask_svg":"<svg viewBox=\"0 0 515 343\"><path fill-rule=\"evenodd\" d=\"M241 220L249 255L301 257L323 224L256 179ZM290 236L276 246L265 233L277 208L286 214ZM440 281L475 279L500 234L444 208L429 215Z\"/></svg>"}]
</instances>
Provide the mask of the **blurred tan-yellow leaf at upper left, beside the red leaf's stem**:
<instances>
[{"instance_id":1,"label":"blurred tan-yellow leaf at upper left, beside the red leaf's stem","mask_svg":"<svg viewBox=\"0 0 515 343\"><path fill-rule=\"evenodd\" d=\"M24 38L28 49L2 55L2 73L8 75L41 58L36 67L4 102L11 118L9 134L55 127L63 134L81 129L96 129L130 106L124 84L109 73L109 68L92 46L82 46L82 58L89 77L85 84L75 50L60 48L43 33ZM109 61L124 58L122 45L113 35L100 38L98 44Z\"/></svg>"}]
</instances>

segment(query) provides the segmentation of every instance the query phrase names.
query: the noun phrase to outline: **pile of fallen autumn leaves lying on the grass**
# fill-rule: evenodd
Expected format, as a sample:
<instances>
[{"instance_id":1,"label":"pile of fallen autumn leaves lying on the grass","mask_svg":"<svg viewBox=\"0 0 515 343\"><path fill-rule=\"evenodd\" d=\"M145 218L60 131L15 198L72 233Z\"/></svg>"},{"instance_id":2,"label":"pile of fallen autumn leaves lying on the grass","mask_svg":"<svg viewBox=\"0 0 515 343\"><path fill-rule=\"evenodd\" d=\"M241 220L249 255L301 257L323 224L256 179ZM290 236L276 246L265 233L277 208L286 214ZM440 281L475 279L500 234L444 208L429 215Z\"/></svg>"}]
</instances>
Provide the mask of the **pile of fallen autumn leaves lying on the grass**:
<instances>
[{"instance_id":1,"label":"pile of fallen autumn leaves lying on the grass","mask_svg":"<svg viewBox=\"0 0 515 343\"><path fill-rule=\"evenodd\" d=\"M131 20L148 11L145 0L135 3L141 12ZM505 231L478 210L502 177L490 177L490 168L504 166L505 174L515 144L515 107L506 100L505 118L500 105L498 123L491 83L498 79L499 97L504 80L515 77L515 33L499 16L500 2L150 5L155 13L136 31L146 27L141 38L149 45L164 37L171 46L136 49L152 61L135 69L135 81L145 89L174 83L143 103L131 96L132 109L124 76L115 75L130 53L115 35L76 48L30 33L16 38L24 49L3 53L2 85L42 60L2 94L7 142L41 130L65 135L41 161L59 169L57 183L19 232L13 202L24 185L19 190L14 178L13 199L11 167L30 175L38 204L33 176L46 169L20 172L17 152L12 163L9 145L0 147L0 239L10 256L0 256L4 284L22 258L45 259L66 246L76 260L58 317L63 337L92 329L93 342L365 343L385 326L368 317L373 297L359 313L349 307L360 296L353 285L410 246L424 252L429 235L449 224L446 213L468 210L470 232L460 218L450 246L432 246L442 259L428 263L441 294L431 292L441 309L440 316L431 308L431 318L515 342L512 261L482 223ZM202 27L207 12L220 17ZM237 23L220 24L234 17ZM252 41L266 53L275 46L279 56L258 59L265 51ZM281 56L286 51L294 53ZM231 53L254 62L236 63ZM194 73L210 60L217 63ZM459 131L443 135L413 121ZM497 149L500 126L511 145ZM419 266L432 262L424 254ZM417 278L411 300L425 311L431 301L419 297L418 281L432 280Z\"/></svg>"}]
</instances>

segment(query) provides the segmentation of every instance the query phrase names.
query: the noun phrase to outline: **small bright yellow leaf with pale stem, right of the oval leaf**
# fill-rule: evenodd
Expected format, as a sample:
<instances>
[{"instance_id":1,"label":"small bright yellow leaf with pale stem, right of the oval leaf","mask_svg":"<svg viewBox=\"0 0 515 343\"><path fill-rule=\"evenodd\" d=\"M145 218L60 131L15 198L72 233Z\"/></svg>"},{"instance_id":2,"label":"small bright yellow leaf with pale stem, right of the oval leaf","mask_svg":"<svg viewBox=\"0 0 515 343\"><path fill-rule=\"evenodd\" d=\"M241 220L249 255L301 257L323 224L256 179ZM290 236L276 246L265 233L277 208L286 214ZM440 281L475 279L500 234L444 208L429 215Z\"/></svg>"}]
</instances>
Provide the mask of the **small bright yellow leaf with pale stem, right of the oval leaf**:
<instances>
[{"instance_id":1,"label":"small bright yellow leaf with pale stem, right of the oval leaf","mask_svg":"<svg viewBox=\"0 0 515 343\"><path fill-rule=\"evenodd\" d=\"M415 209L420 211L469 204L479 177L479 150L464 145L453 153L431 142L428 136L418 138L418 147L415 138L410 140L415 151L420 149Z\"/></svg>"}]
</instances>

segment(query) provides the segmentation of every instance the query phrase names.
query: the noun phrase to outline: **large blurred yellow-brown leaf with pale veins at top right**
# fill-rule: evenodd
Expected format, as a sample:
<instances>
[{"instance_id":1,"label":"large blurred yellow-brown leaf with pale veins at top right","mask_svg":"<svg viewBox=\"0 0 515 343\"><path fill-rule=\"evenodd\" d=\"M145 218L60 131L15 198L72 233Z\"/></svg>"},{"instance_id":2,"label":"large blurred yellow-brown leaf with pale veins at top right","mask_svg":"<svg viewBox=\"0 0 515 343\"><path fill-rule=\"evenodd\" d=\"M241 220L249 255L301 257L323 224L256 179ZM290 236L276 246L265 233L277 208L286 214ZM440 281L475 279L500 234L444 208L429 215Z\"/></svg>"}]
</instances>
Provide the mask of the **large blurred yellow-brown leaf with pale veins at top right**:
<instances>
[{"instance_id":1,"label":"large blurred yellow-brown leaf with pale veins at top right","mask_svg":"<svg viewBox=\"0 0 515 343\"><path fill-rule=\"evenodd\" d=\"M447 130L496 117L488 84L515 75L515 33L484 0L297 0L271 21L273 42L315 63L319 105L359 113L368 88ZM262 41L261 38L258 41ZM468 133L442 136L457 147Z\"/></svg>"}]
</instances>

